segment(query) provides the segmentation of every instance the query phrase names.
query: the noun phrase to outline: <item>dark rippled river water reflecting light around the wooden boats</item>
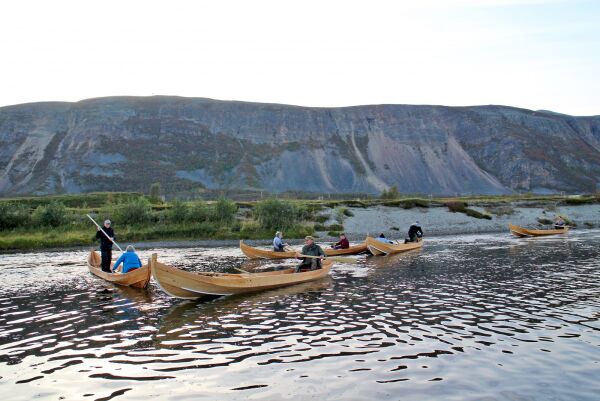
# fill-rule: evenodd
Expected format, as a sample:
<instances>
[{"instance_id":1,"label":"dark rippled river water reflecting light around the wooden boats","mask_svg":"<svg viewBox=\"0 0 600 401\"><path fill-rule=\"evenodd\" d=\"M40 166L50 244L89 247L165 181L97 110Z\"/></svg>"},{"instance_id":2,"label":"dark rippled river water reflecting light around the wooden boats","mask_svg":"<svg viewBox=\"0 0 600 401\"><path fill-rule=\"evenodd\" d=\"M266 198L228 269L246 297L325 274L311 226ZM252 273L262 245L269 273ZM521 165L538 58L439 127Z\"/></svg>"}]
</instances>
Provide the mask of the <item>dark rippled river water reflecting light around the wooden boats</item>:
<instances>
[{"instance_id":1,"label":"dark rippled river water reflecting light around the wooden boats","mask_svg":"<svg viewBox=\"0 0 600 401\"><path fill-rule=\"evenodd\" d=\"M237 248L143 250L259 271ZM0 255L3 400L599 400L600 232L429 238L210 301L120 288L87 251Z\"/></svg>"}]
</instances>

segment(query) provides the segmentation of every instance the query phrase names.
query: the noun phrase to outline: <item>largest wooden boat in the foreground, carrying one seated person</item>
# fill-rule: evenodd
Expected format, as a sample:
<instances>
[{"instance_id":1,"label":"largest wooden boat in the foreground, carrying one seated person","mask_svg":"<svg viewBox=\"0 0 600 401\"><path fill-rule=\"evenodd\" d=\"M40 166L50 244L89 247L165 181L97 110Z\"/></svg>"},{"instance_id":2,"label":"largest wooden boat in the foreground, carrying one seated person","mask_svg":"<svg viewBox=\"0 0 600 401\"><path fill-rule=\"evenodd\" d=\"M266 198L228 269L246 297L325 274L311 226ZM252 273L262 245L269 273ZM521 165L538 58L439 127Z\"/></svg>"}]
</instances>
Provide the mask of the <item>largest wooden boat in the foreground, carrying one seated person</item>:
<instances>
[{"instance_id":1,"label":"largest wooden boat in the foreground, carrying one seated person","mask_svg":"<svg viewBox=\"0 0 600 401\"><path fill-rule=\"evenodd\" d=\"M205 295L232 295L285 287L318 280L329 274L332 261L323 268L295 273L295 268L263 273L194 273L160 263L156 254L150 259L152 276L160 288L175 298L194 299Z\"/></svg>"}]
</instances>

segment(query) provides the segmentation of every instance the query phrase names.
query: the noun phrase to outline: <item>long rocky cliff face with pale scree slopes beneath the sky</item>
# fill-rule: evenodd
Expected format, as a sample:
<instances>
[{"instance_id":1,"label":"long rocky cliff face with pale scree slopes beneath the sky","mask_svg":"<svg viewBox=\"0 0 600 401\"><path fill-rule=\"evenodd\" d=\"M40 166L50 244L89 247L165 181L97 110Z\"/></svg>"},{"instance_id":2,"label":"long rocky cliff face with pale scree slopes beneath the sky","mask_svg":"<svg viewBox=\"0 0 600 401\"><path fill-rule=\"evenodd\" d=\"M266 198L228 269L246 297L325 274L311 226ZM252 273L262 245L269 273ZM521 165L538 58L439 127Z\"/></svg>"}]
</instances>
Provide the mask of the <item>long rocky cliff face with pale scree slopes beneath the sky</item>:
<instances>
[{"instance_id":1,"label":"long rocky cliff face with pale scree slopes beneath the sky","mask_svg":"<svg viewBox=\"0 0 600 401\"><path fill-rule=\"evenodd\" d=\"M590 192L600 117L502 106L305 108L111 97L0 108L0 194Z\"/></svg>"}]
</instances>

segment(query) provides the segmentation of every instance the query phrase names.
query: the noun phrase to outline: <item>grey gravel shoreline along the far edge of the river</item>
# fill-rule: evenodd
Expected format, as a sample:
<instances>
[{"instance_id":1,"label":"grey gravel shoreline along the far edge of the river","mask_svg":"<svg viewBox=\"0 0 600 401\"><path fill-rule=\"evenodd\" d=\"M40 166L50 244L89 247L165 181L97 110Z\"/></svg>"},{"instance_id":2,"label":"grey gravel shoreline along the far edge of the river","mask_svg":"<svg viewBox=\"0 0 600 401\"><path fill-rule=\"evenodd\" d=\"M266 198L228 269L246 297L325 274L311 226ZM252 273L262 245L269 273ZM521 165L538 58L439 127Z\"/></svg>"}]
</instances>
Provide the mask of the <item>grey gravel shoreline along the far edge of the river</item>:
<instances>
[{"instance_id":1,"label":"grey gravel shoreline along the far edge of the river","mask_svg":"<svg viewBox=\"0 0 600 401\"><path fill-rule=\"evenodd\" d=\"M565 202L554 200L513 200L490 202L488 199L471 199L468 201L468 208L464 206L458 211L451 210L450 203L463 202L462 198L448 200L449 203L431 202L428 204L419 205L418 203L408 205L410 200L398 200L392 202L379 202L376 204L366 205L358 201L342 201L335 205L322 206L317 209L313 218L317 221L306 221L307 228L313 227L313 236L316 237L317 243L327 245L337 241L337 237L333 236L338 232L345 232L348 239L352 243L361 242L367 235L377 236L379 233L384 233L386 237L392 239L403 240L408 231L408 227L414 221L419 221L426 237L444 236L444 235L470 235L470 234L491 234L491 233L508 233L508 224L516 224L528 228L547 228L540 224L542 222L552 221L554 216L563 215L569 219L573 228L589 229L600 227L600 203L584 203L584 204L566 204ZM340 209L344 210L344 215L340 221ZM238 212L238 223L244 224L247 217L247 208L240 206ZM479 217L479 218L478 218ZM341 225L340 225L341 223ZM335 227L335 228L333 228ZM165 224L164 228L169 229L170 225ZM222 226L228 229L227 226ZM120 233L127 233L126 226L121 227L117 224L115 231L117 238ZM168 231L168 230L167 230ZM43 231L35 232L39 235L46 235ZM65 237L70 231L59 233ZM84 237L87 235L82 234ZM275 230L273 230L273 235ZM290 232L294 235L294 232ZM6 233L10 237L11 233ZM90 230L89 237L94 234ZM173 235L174 234L174 235ZM149 248L193 248L193 247L237 247L240 238L244 239L249 245L253 246L269 246L272 238L266 237L266 231L246 233L243 235L240 232L230 232L227 236L230 239L190 239L190 238L168 238L165 239L149 239L149 240L131 240L119 241L124 247L127 244L132 244L139 249ZM254 235L253 235L254 234ZM298 235L296 231L295 235ZM52 235L52 234L50 234ZM172 233L176 237L176 233ZM15 234L18 236L18 234ZM231 238L234 237L234 238ZM290 244L298 246L302 244L302 237L289 238L284 230L284 240ZM81 242L80 242L81 243ZM4 248L0 250L0 254L15 254L15 253L35 253L35 252L64 252L71 250L96 249L97 244L89 243L85 245L70 245L68 242L60 243L60 238L54 241L54 244L40 242L28 247Z\"/></svg>"}]
</instances>

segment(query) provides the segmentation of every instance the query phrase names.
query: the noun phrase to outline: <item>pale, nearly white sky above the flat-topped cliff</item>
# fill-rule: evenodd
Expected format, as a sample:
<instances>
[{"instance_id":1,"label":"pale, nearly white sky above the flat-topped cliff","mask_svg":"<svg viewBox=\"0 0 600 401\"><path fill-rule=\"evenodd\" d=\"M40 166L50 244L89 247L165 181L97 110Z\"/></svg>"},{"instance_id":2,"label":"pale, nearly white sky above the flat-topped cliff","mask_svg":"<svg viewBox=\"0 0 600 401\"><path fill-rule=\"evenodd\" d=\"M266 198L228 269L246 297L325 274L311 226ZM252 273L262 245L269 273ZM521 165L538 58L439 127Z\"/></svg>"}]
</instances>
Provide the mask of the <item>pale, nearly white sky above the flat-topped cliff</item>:
<instances>
[{"instance_id":1,"label":"pale, nearly white sky above the flat-topped cliff","mask_svg":"<svg viewBox=\"0 0 600 401\"><path fill-rule=\"evenodd\" d=\"M0 3L0 106L113 95L600 115L600 1Z\"/></svg>"}]
</instances>

